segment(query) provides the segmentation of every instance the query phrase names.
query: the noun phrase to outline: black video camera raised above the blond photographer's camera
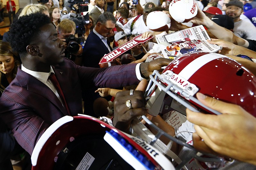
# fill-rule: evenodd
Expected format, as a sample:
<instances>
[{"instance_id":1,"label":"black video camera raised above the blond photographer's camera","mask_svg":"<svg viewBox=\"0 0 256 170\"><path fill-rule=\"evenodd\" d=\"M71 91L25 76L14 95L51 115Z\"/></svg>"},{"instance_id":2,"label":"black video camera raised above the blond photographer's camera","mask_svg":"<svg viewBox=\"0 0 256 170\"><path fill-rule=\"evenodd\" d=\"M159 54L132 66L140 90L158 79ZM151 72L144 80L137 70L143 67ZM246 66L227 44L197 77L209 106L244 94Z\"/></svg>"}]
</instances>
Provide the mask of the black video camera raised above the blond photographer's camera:
<instances>
[{"instance_id":1,"label":"black video camera raised above the blond photographer's camera","mask_svg":"<svg viewBox=\"0 0 256 170\"><path fill-rule=\"evenodd\" d=\"M76 16L72 19L76 23L76 33L78 37L82 37L85 33L85 24L89 24L89 12L88 6L85 4L89 3L89 0L68 0L71 10L76 11ZM78 5L78 10L74 7L74 4Z\"/></svg>"}]
</instances>

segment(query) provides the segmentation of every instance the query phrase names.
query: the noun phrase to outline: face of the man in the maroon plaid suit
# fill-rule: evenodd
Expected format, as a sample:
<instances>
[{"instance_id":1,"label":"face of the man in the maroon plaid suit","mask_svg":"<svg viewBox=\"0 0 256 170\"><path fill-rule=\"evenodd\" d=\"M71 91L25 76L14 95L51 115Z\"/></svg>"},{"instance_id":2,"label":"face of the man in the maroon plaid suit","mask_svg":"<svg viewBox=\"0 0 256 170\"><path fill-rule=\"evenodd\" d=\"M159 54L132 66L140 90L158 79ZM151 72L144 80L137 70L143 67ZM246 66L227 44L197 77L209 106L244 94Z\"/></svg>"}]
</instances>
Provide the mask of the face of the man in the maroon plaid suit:
<instances>
[{"instance_id":1,"label":"face of the man in the maroon plaid suit","mask_svg":"<svg viewBox=\"0 0 256 170\"><path fill-rule=\"evenodd\" d=\"M46 24L40 29L40 34L35 37L35 44L40 56L40 63L44 65L56 65L63 62L64 43L58 38L58 33L52 24Z\"/></svg>"}]
</instances>

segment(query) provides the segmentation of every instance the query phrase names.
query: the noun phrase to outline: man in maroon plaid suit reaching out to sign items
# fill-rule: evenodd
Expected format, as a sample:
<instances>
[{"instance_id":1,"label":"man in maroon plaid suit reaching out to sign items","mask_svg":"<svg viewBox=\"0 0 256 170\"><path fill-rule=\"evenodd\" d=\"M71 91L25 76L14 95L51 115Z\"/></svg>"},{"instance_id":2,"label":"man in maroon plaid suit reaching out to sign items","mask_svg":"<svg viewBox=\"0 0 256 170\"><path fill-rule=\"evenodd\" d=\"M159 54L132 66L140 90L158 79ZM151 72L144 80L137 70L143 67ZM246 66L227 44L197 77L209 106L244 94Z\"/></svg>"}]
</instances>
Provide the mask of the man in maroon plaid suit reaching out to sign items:
<instances>
[{"instance_id":1,"label":"man in maroon plaid suit reaching out to sign items","mask_svg":"<svg viewBox=\"0 0 256 170\"><path fill-rule=\"evenodd\" d=\"M65 115L82 113L81 93L84 89L138 84L143 79L141 76L148 77L153 70L160 70L170 62L166 59L151 64L102 69L78 66L63 58L63 42L58 39L57 31L48 16L41 13L15 20L9 35L10 45L19 52L22 65L0 98L0 118L30 154L38 139L53 122ZM51 73L55 74L65 101L48 79ZM128 116L122 121L131 119Z\"/></svg>"}]
</instances>

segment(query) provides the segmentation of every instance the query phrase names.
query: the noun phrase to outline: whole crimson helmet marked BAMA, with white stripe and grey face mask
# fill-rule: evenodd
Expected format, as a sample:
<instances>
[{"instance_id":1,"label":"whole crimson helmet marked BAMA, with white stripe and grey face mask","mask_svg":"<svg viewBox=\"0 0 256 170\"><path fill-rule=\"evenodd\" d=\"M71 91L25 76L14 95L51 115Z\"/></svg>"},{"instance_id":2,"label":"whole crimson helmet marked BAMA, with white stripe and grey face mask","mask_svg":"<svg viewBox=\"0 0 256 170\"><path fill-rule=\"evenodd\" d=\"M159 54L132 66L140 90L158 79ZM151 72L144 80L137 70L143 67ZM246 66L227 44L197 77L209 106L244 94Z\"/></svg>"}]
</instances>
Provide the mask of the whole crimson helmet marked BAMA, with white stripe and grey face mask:
<instances>
[{"instance_id":1,"label":"whole crimson helmet marked BAMA, with white stripe and grey face mask","mask_svg":"<svg viewBox=\"0 0 256 170\"><path fill-rule=\"evenodd\" d=\"M197 100L196 93L201 92L217 100L237 104L256 116L256 79L254 75L240 63L224 55L215 53L184 55L173 60L162 74L155 70L149 77L150 81L145 97L150 115L156 116L171 110L177 110L186 115L186 107L195 112L221 114ZM191 149L191 155L179 163L177 169L185 165L186 161L192 157L198 160L202 166L208 168L222 167L226 164L226 159L206 153L203 153L206 157L198 157L201 153L196 153L193 146L168 135L150 122L146 116L142 116L142 118L157 131L155 138L149 142L150 144L154 145L154 142L163 135ZM209 160L205 160L205 158L209 158Z\"/></svg>"}]
</instances>

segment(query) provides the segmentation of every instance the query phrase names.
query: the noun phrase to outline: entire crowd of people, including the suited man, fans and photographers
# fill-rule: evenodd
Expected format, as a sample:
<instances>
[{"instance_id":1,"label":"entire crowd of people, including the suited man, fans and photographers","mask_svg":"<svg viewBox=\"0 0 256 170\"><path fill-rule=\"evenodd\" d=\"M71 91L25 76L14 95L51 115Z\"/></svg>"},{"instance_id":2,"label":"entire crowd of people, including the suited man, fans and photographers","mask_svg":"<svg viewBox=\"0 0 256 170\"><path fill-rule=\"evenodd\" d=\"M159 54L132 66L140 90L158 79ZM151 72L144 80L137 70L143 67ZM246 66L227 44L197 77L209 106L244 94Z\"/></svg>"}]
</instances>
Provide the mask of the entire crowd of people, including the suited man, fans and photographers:
<instances>
[{"instance_id":1,"label":"entire crowd of people, including the suited man, fans and photographers","mask_svg":"<svg viewBox=\"0 0 256 170\"><path fill-rule=\"evenodd\" d=\"M141 38L145 39L203 25L212 38L208 42L222 47L217 53L241 63L254 77L256 2L195 2L197 15L188 23L179 23L169 13L169 0L163 4L141 4L140 0L133 4L133 1L121 0L116 2L119 3L116 11L113 0L91 0L86 4L88 21L80 29L76 17L81 12L81 4L73 4L67 9L62 0L58 4L49 0L28 4L15 15L15 3L9 0L6 8L10 30L0 42L0 167L12 169L16 164L30 169L29 157L45 130L65 115L99 117L94 110L94 101L99 98L109 104L106 116L112 117L113 125L124 132L131 131L134 118L148 115L143 92L133 90L145 89L145 83L136 86L149 79L154 70L161 72L172 62L164 58L156 38L127 50L109 63L99 64L104 55L137 35L142 34ZM152 31L147 26L147 18L153 11L168 15L171 26L162 32ZM1 17L2 14L0 25ZM160 59L146 62L152 54ZM195 96L221 115L187 109L186 113L171 111L149 116L151 121L166 133L193 144L198 151L228 158L228 163L220 169L255 169L256 118L237 103L230 104L202 93ZM127 101L130 101L129 106ZM179 126L168 123L175 114L183 120ZM189 132L183 135L182 131ZM179 148L174 144L172 150L181 158L190 152ZM186 167L205 168L192 159Z\"/></svg>"}]
</instances>

